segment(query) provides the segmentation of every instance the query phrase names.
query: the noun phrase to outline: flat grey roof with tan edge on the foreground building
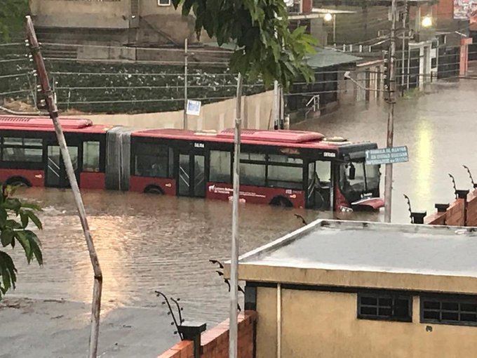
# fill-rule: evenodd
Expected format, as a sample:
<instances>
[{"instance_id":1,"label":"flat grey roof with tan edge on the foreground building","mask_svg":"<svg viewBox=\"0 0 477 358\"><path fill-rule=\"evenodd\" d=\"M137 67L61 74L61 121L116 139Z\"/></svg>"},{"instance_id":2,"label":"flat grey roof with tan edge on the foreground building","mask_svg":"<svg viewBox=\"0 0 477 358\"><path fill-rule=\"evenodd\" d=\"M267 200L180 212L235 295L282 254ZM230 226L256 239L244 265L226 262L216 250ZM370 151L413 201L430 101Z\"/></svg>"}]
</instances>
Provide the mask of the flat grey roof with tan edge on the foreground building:
<instances>
[{"instance_id":1,"label":"flat grey roof with tan edge on the foreground building","mask_svg":"<svg viewBox=\"0 0 477 358\"><path fill-rule=\"evenodd\" d=\"M477 293L477 232L316 220L240 258L240 279ZM452 277L452 280L448 278Z\"/></svg>"}]
</instances>

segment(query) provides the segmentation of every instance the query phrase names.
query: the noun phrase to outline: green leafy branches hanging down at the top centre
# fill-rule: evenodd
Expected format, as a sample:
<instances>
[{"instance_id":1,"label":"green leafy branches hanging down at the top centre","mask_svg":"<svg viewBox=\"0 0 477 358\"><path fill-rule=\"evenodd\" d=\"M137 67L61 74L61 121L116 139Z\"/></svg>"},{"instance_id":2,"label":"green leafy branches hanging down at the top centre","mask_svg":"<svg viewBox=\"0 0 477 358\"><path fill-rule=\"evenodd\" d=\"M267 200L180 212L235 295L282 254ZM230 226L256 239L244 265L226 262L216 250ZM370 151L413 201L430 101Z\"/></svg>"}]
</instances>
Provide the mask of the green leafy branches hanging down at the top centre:
<instances>
[{"instance_id":1,"label":"green leafy branches hanging down at the top centre","mask_svg":"<svg viewBox=\"0 0 477 358\"><path fill-rule=\"evenodd\" d=\"M269 88L278 81L283 88L302 75L311 81L313 72L305 57L314 53L314 37L304 27L290 32L283 0L173 0L182 14L196 16L196 34L204 29L222 44L236 44L230 67L251 79L261 77Z\"/></svg>"}]
</instances>

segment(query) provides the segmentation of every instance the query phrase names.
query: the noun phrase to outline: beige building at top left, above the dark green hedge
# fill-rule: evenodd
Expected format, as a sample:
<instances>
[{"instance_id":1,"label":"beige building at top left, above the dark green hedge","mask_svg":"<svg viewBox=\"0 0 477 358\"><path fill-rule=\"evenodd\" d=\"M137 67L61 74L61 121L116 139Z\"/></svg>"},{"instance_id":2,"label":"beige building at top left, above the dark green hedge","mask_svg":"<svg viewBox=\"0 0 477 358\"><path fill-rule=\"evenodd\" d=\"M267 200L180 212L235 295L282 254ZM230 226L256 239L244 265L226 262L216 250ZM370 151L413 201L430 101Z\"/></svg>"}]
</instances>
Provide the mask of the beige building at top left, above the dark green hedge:
<instances>
[{"instance_id":1,"label":"beige building at top left, above the dark green hedge","mask_svg":"<svg viewBox=\"0 0 477 358\"><path fill-rule=\"evenodd\" d=\"M43 41L160 46L196 41L194 18L170 0L30 0Z\"/></svg>"}]
</instances>

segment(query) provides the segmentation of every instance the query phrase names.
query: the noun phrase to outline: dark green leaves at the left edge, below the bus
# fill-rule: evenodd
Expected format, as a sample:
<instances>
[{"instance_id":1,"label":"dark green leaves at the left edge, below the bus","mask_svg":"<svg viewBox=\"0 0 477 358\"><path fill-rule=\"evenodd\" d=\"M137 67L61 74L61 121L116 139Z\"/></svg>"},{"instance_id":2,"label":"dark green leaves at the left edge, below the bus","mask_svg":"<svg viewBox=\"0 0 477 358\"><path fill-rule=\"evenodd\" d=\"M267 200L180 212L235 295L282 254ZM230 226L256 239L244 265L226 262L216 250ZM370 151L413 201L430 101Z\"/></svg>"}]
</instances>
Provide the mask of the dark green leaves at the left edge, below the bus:
<instances>
[{"instance_id":1,"label":"dark green leaves at the left edge, below the bus","mask_svg":"<svg viewBox=\"0 0 477 358\"><path fill-rule=\"evenodd\" d=\"M43 265L41 243L36 234L27 229L28 224L32 222L41 230L41 221L35 214L35 211L39 211L40 208L35 204L24 203L12 197L14 192L14 187L0 183L1 246L15 248L18 242L25 251L28 263L36 258L39 265ZM8 290L15 289L16 272L11 256L0 250L0 300Z\"/></svg>"}]
</instances>

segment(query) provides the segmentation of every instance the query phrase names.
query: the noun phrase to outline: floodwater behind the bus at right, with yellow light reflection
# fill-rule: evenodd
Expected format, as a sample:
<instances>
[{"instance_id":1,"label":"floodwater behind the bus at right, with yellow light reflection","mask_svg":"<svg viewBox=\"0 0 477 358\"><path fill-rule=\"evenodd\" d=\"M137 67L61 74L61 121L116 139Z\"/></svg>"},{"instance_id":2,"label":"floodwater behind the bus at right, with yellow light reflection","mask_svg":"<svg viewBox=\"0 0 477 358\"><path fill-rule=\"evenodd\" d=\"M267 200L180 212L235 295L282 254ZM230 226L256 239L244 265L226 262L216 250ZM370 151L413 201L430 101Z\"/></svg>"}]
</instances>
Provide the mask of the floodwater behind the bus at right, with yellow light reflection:
<instances>
[{"instance_id":1,"label":"floodwater behind the bus at right, with yellow light reflection","mask_svg":"<svg viewBox=\"0 0 477 358\"><path fill-rule=\"evenodd\" d=\"M433 212L434 204L454 199L448 173L455 175L457 189L471 183L462 164L477 175L477 81L444 82L433 93L398 100L394 123L394 145L407 145L408 163L394 166L392 220L409 223L403 194L411 199L413 210ZM325 135L342 135L350 140L371 140L386 146L387 105L344 107L297 128L309 128ZM382 168L384 190L384 168ZM379 220L383 220L380 216Z\"/></svg>"}]
</instances>

